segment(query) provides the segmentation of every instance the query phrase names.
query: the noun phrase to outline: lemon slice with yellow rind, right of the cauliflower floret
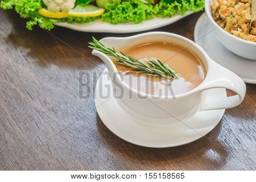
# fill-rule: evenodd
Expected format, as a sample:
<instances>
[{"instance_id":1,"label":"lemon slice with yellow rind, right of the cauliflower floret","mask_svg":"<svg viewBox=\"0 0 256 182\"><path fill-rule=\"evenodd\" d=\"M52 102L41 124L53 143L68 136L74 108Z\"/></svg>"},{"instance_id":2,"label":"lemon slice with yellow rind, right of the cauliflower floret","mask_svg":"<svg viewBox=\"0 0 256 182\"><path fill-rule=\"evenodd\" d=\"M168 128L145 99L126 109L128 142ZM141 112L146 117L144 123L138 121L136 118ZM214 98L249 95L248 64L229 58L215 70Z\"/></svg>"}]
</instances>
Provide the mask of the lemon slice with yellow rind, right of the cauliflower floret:
<instances>
[{"instance_id":1,"label":"lemon slice with yellow rind, right of the cauliflower floret","mask_svg":"<svg viewBox=\"0 0 256 182\"><path fill-rule=\"evenodd\" d=\"M92 16L100 16L104 14L105 9L102 9L93 5L86 6L76 6L73 10L68 12L69 16L77 16L77 17L92 17Z\"/></svg>"}]
</instances>

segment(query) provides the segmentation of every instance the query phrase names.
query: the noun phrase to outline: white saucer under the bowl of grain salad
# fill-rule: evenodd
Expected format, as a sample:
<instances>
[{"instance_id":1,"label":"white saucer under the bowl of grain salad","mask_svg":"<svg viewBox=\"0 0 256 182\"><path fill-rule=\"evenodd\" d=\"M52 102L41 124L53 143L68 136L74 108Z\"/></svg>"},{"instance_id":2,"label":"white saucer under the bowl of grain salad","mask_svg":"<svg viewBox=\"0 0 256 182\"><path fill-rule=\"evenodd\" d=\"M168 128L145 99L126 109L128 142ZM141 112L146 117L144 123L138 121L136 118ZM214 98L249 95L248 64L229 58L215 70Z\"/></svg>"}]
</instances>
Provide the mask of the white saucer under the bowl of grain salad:
<instances>
[{"instance_id":1,"label":"white saucer under the bowl of grain salad","mask_svg":"<svg viewBox=\"0 0 256 182\"><path fill-rule=\"evenodd\" d=\"M243 81L256 84L256 61L237 56L222 46L205 13L196 22L194 39L216 63L236 73Z\"/></svg>"}]
</instances>

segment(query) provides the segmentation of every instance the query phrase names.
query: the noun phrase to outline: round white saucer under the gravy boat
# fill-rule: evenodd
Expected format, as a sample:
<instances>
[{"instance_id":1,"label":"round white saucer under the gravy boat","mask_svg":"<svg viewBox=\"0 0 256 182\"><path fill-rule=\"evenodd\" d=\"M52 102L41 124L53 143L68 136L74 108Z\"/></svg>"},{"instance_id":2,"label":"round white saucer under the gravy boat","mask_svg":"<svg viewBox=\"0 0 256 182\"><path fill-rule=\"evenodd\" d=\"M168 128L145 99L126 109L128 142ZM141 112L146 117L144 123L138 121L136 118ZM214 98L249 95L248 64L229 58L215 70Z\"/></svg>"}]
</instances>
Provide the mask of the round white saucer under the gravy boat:
<instances>
[{"instance_id":1,"label":"round white saucer under the gravy boat","mask_svg":"<svg viewBox=\"0 0 256 182\"><path fill-rule=\"evenodd\" d=\"M206 98L226 97L225 89L208 90ZM101 96L101 97L100 97ZM103 98L104 97L104 98ZM188 121L170 125L145 125L135 115L127 114L113 97L112 82L105 69L98 78L95 104L102 122L118 137L138 146L165 148L193 142L208 134L220 122L225 110L199 111Z\"/></svg>"}]
</instances>

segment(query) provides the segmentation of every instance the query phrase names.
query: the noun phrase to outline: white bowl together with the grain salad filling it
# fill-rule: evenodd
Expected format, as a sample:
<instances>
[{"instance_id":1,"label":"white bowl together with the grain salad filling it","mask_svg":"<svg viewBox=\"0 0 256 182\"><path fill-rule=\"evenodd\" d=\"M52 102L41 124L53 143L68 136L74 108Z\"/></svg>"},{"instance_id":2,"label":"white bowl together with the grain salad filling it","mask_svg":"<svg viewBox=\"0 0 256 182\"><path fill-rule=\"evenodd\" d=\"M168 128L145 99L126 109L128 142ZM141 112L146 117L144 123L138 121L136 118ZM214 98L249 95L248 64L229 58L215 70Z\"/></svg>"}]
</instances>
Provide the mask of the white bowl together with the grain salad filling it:
<instances>
[{"instance_id":1,"label":"white bowl together with the grain salad filling it","mask_svg":"<svg viewBox=\"0 0 256 182\"><path fill-rule=\"evenodd\" d=\"M224 47L238 56L256 60L254 29L250 28L251 11L245 8L251 5L249 1L205 0L205 13L211 31Z\"/></svg>"}]
</instances>

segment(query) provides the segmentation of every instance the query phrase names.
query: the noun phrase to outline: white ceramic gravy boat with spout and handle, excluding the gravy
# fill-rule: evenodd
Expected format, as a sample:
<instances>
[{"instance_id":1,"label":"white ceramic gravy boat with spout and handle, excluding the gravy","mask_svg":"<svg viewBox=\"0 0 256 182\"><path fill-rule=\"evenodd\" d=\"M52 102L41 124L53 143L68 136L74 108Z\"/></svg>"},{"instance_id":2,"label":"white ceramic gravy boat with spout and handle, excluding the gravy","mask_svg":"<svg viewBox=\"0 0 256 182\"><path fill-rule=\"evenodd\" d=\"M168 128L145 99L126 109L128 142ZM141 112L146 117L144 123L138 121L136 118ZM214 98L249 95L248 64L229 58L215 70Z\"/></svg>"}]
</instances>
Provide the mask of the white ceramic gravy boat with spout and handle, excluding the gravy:
<instances>
[{"instance_id":1,"label":"white ceramic gravy boat with spout and handle, excluding the gravy","mask_svg":"<svg viewBox=\"0 0 256 182\"><path fill-rule=\"evenodd\" d=\"M147 42L170 42L186 47L204 61L207 74L204 81L195 89L175 96L154 96L131 88L119 75L113 61L104 53L93 50L93 55L100 57L108 68L113 89L122 106L129 108L149 120L154 119L186 119L201 110L217 110L235 107L243 101L246 93L245 83L235 73L215 63L196 43L183 36L167 32L148 32L127 38L104 38L100 42L110 48L129 48ZM225 61L225 60L224 60ZM236 96L220 97L208 102L202 99L204 91L213 88L226 88L237 93Z\"/></svg>"}]
</instances>

